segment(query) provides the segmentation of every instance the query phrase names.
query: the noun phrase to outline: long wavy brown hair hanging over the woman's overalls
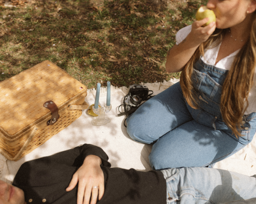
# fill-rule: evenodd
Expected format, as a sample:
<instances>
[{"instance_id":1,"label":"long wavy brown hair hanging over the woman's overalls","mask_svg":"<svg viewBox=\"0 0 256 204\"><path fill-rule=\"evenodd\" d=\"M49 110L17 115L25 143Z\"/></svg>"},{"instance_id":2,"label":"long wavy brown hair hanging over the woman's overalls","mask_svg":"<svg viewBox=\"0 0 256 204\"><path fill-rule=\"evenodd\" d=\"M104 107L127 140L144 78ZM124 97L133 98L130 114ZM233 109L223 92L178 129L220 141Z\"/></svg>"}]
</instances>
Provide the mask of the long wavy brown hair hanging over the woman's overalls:
<instances>
[{"instance_id":1,"label":"long wavy brown hair hanging over the woman's overalls","mask_svg":"<svg viewBox=\"0 0 256 204\"><path fill-rule=\"evenodd\" d=\"M204 55L205 48L217 46L229 29L216 29L207 41L201 43L194 55L187 62L180 76L180 85L187 103L197 109L199 101L191 81L194 63ZM236 55L222 86L220 111L223 121L238 137L242 136L241 125L244 112L248 107L248 95L253 86L256 67L256 11L247 42Z\"/></svg>"}]
</instances>

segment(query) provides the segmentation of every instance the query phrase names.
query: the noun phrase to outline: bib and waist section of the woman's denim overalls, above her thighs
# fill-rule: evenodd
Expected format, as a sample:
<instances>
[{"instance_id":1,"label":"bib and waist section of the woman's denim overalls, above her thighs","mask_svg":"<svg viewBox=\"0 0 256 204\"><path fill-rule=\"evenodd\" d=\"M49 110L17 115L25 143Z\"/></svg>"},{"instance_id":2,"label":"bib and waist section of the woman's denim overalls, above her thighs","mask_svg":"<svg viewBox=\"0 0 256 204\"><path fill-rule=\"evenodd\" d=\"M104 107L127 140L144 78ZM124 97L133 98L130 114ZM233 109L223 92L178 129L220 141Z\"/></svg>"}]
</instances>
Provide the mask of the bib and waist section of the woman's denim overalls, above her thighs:
<instances>
[{"instance_id":1,"label":"bib and waist section of the woman's denim overalls, above her thighs","mask_svg":"<svg viewBox=\"0 0 256 204\"><path fill-rule=\"evenodd\" d=\"M228 70L216 68L205 64L199 59L192 75L193 86L199 98L200 109L193 109L187 106L192 117L200 124L213 127L215 130L223 130L243 145L252 141L256 127L256 113L253 112L243 116L242 137L238 139L232 134L231 129L223 122L220 112L220 98L222 85L225 81ZM253 128L253 135L250 137L250 129Z\"/></svg>"}]
</instances>

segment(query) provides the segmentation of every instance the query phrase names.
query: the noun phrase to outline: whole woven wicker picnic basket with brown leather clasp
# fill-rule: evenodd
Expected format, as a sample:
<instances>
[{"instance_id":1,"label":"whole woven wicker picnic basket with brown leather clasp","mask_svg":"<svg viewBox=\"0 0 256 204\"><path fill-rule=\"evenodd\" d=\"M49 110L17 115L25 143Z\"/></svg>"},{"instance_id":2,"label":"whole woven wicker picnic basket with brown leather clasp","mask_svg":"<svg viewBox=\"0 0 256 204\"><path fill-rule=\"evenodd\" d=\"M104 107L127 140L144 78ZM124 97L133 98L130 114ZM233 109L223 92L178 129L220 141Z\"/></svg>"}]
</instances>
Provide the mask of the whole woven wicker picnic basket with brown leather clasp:
<instances>
[{"instance_id":1,"label":"whole woven wicker picnic basket with brown leather clasp","mask_svg":"<svg viewBox=\"0 0 256 204\"><path fill-rule=\"evenodd\" d=\"M46 60L0 83L0 152L17 161L87 109L87 87Z\"/></svg>"}]
</instances>

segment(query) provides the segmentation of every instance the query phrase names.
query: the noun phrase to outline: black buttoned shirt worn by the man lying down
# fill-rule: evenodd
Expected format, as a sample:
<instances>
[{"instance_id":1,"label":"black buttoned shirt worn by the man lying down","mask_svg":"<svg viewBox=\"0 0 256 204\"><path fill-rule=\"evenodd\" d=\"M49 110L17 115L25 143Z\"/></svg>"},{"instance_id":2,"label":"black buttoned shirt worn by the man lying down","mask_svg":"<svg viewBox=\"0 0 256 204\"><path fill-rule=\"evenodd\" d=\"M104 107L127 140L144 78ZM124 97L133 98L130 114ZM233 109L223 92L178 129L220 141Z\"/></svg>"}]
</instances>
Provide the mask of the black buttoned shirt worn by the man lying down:
<instances>
[{"instance_id":1,"label":"black buttoned shirt worn by the man lying down","mask_svg":"<svg viewBox=\"0 0 256 204\"><path fill-rule=\"evenodd\" d=\"M106 153L90 144L25 162L17 172L13 185L24 190L27 203L76 204L78 185L70 192L65 189L88 155L97 155L102 160L105 191L97 203L166 203L166 181L160 171L110 168Z\"/></svg>"}]
</instances>

